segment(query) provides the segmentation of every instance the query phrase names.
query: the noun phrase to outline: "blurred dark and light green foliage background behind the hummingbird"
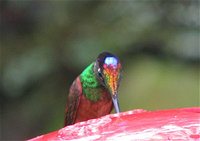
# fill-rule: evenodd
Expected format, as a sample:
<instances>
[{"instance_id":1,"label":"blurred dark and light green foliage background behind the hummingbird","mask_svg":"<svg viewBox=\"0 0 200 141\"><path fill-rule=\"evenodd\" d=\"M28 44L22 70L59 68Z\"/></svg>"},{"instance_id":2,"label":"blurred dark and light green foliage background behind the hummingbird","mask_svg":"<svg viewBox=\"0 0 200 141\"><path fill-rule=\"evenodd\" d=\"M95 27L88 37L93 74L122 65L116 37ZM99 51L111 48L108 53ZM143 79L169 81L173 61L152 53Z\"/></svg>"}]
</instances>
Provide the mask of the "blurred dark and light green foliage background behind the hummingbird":
<instances>
[{"instance_id":1,"label":"blurred dark and light green foliage background behind the hummingbird","mask_svg":"<svg viewBox=\"0 0 200 141\"><path fill-rule=\"evenodd\" d=\"M0 1L0 140L63 127L73 80L119 56L121 110L199 106L199 1Z\"/></svg>"}]
</instances>

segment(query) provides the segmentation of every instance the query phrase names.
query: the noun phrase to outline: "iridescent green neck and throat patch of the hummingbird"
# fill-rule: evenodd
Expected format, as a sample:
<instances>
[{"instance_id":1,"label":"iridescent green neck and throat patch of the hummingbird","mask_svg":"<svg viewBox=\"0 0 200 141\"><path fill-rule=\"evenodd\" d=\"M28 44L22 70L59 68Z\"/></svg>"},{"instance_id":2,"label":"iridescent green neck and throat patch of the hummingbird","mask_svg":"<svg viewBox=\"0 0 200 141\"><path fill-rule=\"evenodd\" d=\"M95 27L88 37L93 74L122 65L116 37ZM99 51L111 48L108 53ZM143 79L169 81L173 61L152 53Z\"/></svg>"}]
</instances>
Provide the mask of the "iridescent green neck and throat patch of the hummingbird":
<instances>
[{"instance_id":1,"label":"iridescent green neck and throat patch of the hummingbird","mask_svg":"<svg viewBox=\"0 0 200 141\"><path fill-rule=\"evenodd\" d=\"M96 102L100 99L103 88L94 73L94 63L89 65L80 75L82 91L87 99Z\"/></svg>"}]
</instances>

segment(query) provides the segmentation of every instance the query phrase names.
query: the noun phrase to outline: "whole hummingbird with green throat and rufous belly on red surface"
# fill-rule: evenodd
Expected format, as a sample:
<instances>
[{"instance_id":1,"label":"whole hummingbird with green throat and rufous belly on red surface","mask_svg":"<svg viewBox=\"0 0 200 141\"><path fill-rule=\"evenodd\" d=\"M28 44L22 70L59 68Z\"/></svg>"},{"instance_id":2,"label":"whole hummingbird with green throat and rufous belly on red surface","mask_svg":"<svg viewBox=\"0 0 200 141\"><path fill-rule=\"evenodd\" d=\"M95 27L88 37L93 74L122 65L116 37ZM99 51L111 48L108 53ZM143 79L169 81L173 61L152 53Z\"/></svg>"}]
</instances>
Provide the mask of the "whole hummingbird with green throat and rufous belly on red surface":
<instances>
[{"instance_id":1,"label":"whole hummingbird with green throat and rufous belly on red surface","mask_svg":"<svg viewBox=\"0 0 200 141\"><path fill-rule=\"evenodd\" d=\"M64 126L120 112L118 88L122 65L109 52L99 54L72 83L66 104Z\"/></svg>"}]
</instances>

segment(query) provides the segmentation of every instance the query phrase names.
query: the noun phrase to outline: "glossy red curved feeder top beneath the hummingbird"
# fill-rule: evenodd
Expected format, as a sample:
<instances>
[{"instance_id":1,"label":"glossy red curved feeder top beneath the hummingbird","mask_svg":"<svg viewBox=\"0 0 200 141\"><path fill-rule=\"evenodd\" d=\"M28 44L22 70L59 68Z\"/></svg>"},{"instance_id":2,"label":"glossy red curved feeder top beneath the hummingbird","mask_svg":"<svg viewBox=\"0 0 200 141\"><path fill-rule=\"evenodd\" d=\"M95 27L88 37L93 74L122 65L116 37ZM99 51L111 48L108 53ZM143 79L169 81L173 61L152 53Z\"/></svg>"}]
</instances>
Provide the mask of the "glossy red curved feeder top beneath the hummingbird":
<instances>
[{"instance_id":1,"label":"glossy red curved feeder top beneath the hummingbird","mask_svg":"<svg viewBox=\"0 0 200 141\"><path fill-rule=\"evenodd\" d=\"M29 141L200 139L200 107L133 110L80 122Z\"/></svg>"}]
</instances>

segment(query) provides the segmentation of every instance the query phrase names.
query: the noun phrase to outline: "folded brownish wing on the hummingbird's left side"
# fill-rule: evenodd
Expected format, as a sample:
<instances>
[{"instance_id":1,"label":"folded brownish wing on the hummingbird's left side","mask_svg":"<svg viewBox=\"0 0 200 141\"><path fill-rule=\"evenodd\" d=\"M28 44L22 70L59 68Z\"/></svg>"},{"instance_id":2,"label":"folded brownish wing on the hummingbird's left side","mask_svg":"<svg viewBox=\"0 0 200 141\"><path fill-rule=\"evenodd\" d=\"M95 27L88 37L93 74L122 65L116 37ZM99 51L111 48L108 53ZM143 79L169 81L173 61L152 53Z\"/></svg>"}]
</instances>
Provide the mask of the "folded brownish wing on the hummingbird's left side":
<instances>
[{"instance_id":1,"label":"folded brownish wing on the hummingbird's left side","mask_svg":"<svg viewBox=\"0 0 200 141\"><path fill-rule=\"evenodd\" d=\"M79 107L80 98L82 95L82 85L80 77L77 77L70 87L65 113L65 126L74 124L76 113Z\"/></svg>"}]
</instances>

